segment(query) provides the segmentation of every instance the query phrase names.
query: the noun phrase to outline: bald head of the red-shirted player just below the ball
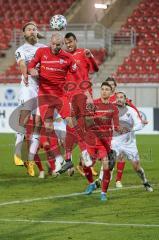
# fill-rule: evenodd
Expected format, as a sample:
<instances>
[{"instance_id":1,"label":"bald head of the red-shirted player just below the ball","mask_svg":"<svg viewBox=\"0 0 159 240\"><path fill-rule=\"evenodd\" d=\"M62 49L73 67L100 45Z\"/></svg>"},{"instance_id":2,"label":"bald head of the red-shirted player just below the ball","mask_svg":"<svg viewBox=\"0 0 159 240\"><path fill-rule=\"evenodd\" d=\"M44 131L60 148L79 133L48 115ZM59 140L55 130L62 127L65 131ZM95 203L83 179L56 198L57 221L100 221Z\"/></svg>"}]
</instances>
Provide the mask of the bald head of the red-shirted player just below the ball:
<instances>
[{"instance_id":1,"label":"bald head of the red-shirted player just below the ball","mask_svg":"<svg viewBox=\"0 0 159 240\"><path fill-rule=\"evenodd\" d=\"M59 51L63 47L63 44L63 36L58 32L53 33L50 41L50 48L55 55L59 53Z\"/></svg>"}]
</instances>

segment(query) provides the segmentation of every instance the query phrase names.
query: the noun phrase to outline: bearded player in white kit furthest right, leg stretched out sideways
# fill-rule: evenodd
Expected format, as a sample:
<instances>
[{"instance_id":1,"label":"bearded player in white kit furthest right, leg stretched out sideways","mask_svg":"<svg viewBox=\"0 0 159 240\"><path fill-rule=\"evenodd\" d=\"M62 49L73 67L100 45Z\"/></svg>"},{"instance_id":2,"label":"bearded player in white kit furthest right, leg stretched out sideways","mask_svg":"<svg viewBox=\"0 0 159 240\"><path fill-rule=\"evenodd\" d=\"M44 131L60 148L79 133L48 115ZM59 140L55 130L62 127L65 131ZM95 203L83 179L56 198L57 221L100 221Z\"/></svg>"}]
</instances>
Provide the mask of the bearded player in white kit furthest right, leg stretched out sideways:
<instances>
[{"instance_id":1,"label":"bearded player in white kit furthest right, leg stretched out sideways","mask_svg":"<svg viewBox=\"0 0 159 240\"><path fill-rule=\"evenodd\" d=\"M152 192L153 188L148 183L144 169L140 165L139 153L136 145L135 132L143 128L143 123L137 112L126 105L125 93L117 92L116 101L119 110L119 123L124 131L122 134L114 134L112 149L116 151L118 161L124 161L124 159L131 161L134 170L143 181L145 189Z\"/></svg>"}]
</instances>

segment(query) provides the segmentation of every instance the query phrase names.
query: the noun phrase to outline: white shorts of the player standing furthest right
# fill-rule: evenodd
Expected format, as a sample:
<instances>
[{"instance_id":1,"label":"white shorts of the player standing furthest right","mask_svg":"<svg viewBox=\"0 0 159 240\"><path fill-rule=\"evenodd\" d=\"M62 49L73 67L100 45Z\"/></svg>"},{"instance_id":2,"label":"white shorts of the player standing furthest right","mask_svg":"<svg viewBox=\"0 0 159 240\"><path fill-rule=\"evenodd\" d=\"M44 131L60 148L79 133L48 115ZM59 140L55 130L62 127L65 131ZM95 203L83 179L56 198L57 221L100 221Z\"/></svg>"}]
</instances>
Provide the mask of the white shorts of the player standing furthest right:
<instances>
[{"instance_id":1,"label":"white shorts of the player standing furthest right","mask_svg":"<svg viewBox=\"0 0 159 240\"><path fill-rule=\"evenodd\" d=\"M122 154L128 160L139 161L139 153L136 146L136 141L132 141L131 143L127 144L112 140L111 147L116 151L117 157Z\"/></svg>"}]
</instances>

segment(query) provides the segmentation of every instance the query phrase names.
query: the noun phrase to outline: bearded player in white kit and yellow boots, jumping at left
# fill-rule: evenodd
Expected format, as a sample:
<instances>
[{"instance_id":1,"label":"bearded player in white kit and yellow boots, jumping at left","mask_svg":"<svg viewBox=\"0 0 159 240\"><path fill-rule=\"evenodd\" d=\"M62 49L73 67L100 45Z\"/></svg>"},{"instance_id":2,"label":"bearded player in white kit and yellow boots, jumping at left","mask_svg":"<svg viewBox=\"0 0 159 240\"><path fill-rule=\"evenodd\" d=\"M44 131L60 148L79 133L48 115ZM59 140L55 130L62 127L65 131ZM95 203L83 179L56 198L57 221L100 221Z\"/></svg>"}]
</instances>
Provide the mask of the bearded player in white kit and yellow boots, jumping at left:
<instances>
[{"instance_id":1,"label":"bearded player in white kit and yellow boots, jumping at left","mask_svg":"<svg viewBox=\"0 0 159 240\"><path fill-rule=\"evenodd\" d=\"M41 118L37 113L38 79L28 75L27 64L34 57L36 50L45 45L38 43L38 38L41 38L41 35L38 33L37 26L34 22L28 22L24 25L23 34L25 43L15 52L16 61L22 74L19 90L19 125L22 127L23 131L17 132L16 134L14 162L17 166L24 165L21 160L21 149L25 136L25 127L32 113L35 127L31 138L28 155L28 160L30 161L27 161L27 169L28 174L34 176L33 156L38 147L39 134L37 133L41 127Z\"/></svg>"}]
</instances>

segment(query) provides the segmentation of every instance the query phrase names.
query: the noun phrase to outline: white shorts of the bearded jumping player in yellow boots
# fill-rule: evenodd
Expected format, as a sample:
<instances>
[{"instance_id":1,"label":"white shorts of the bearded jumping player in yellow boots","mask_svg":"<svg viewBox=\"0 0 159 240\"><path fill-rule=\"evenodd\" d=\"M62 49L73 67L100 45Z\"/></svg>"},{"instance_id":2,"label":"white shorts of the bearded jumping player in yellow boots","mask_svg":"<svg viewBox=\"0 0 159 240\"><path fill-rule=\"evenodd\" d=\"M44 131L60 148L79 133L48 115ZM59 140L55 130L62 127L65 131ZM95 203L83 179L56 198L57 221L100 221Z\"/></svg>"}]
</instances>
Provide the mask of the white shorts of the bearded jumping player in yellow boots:
<instances>
[{"instance_id":1,"label":"white shorts of the bearded jumping player in yellow boots","mask_svg":"<svg viewBox=\"0 0 159 240\"><path fill-rule=\"evenodd\" d=\"M38 110L38 87L30 85L28 87L21 85L18 96L21 110L29 110L32 114L37 114Z\"/></svg>"}]
</instances>

